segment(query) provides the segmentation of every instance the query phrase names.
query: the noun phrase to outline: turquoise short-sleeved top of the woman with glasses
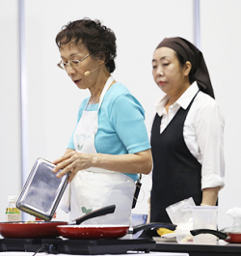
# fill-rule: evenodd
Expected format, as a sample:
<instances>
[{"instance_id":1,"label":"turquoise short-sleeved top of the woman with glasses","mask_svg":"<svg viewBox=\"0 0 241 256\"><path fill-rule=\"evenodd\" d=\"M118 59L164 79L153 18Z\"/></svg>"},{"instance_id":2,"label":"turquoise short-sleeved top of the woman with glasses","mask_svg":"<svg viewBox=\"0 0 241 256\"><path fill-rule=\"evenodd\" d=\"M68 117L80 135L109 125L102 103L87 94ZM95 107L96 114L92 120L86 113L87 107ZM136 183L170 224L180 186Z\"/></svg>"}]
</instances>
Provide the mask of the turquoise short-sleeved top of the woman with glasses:
<instances>
[{"instance_id":1,"label":"turquoise short-sleeved top of the woman with glasses","mask_svg":"<svg viewBox=\"0 0 241 256\"><path fill-rule=\"evenodd\" d=\"M85 109L95 111L98 108L98 104L90 104L86 108L89 99L80 104L77 124ZM73 133L67 148L74 150ZM110 155L135 154L150 148L145 111L140 102L120 83L113 84L106 92L99 108L94 146L97 153ZM137 174L126 175L135 181L138 179Z\"/></svg>"}]
</instances>

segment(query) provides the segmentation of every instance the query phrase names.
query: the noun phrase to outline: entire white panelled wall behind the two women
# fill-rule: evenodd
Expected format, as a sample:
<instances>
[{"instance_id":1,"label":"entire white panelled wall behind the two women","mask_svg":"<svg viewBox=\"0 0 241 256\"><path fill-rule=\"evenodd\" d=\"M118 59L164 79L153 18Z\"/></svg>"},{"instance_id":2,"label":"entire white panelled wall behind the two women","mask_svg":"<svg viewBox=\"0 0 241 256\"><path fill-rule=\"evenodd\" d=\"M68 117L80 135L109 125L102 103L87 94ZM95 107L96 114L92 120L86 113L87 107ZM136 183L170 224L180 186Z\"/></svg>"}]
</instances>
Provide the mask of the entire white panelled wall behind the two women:
<instances>
[{"instance_id":1,"label":"entire white panelled wall behind the two women","mask_svg":"<svg viewBox=\"0 0 241 256\"><path fill-rule=\"evenodd\" d=\"M11 9L10 2L13 4ZM56 66L60 56L55 45L55 36L68 21L88 16L100 19L114 30L117 36L118 57L117 71L113 76L124 83L141 101L146 109L147 124L151 120L153 103L161 95L151 76L154 48L165 37L180 36L193 42L192 0L25 0L25 5L29 105L27 172L30 172L37 157L52 160L65 152L67 141L75 125L78 105L89 95L89 92L78 90L65 71L61 71ZM238 31L234 31L234 28L238 28L240 24L237 13L240 5L238 0L230 0L228 5L224 0L201 0L201 49L210 71L216 99L224 110L227 123L227 186L220 193L220 228L231 224L226 211L237 206L240 180L238 169L240 122L238 115L234 114L238 109L236 105L238 83L235 74L238 72L240 55L238 49L240 41L236 36ZM6 25L13 31L12 37L17 42L16 1L0 0L0 19L8 20L8 18L11 22L6 22ZM2 32L2 26L0 29ZM4 214L1 213L6 207L7 196L12 193L9 188L13 182L11 177L19 181L14 186L14 193L20 191L20 147L17 133L19 132L17 112L19 111L19 75L17 66L13 69L13 62L10 61L17 56L16 42L12 46L9 40L1 41L2 47L0 47L1 57L4 56L5 60L0 64L3 65L0 69L0 136L1 142L3 141L1 163L5 166L4 171L1 170L5 181L1 182L0 187L1 219L4 218ZM8 55L6 49L10 45L12 50ZM10 84L12 91L9 91ZM230 91L229 88L232 90ZM234 94L230 95L231 92ZM10 102L8 99L11 99ZM2 109L6 109L6 104L10 106L8 108L10 110L2 113ZM13 124L8 123L9 115L13 116ZM5 124L4 127L2 123ZM15 128L14 131L10 129L12 127ZM13 139L15 143L10 144L10 138L15 138ZM9 171L10 165L11 171ZM144 178L144 186L147 186L146 178ZM147 212L147 192L144 194L142 191L140 199L142 197L144 197L143 201L138 204L135 212ZM62 213L59 216L66 217Z\"/></svg>"}]
</instances>

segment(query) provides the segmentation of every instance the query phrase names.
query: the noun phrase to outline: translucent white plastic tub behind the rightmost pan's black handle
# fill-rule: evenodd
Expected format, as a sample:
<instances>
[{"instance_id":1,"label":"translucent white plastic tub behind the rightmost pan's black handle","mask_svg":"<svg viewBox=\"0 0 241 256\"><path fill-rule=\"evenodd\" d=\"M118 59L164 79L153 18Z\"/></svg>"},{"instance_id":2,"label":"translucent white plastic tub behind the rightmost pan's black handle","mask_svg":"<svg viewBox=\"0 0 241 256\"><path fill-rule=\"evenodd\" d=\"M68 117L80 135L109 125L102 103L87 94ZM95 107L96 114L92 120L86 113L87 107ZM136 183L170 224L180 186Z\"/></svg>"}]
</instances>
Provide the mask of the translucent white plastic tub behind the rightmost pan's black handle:
<instances>
[{"instance_id":1,"label":"translucent white plastic tub behind the rightmost pan's black handle","mask_svg":"<svg viewBox=\"0 0 241 256\"><path fill-rule=\"evenodd\" d=\"M196 206L193 207L193 229L213 229L217 230L218 207L216 206ZM194 236L194 243L215 244L217 237L211 234L201 234Z\"/></svg>"}]
</instances>

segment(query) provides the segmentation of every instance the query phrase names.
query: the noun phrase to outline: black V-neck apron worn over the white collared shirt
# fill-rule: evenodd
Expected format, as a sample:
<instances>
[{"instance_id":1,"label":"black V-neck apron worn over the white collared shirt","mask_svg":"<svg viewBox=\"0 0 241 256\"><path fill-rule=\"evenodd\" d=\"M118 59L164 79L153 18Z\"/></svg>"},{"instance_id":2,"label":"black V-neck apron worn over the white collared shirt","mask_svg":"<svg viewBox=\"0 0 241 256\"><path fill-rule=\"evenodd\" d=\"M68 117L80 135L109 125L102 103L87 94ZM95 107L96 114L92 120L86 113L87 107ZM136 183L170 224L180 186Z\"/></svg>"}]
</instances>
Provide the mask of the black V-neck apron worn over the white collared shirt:
<instances>
[{"instance_id":1,"label":"black V-neck apron worn over the white collared shirt","mask_svg":"<svg viewBox=\"0 0 241 256\"><path fill-rule=\"evenodd\" d=\"M189 197L193 197L196 205L201 204L201 164L190 153L183 137L184 122L193 100L186 110L178 109L161 134L162 117L155 116L150 138L153 156L151 222L172 222L166 208Z\"/></svg>"}]
</instances>

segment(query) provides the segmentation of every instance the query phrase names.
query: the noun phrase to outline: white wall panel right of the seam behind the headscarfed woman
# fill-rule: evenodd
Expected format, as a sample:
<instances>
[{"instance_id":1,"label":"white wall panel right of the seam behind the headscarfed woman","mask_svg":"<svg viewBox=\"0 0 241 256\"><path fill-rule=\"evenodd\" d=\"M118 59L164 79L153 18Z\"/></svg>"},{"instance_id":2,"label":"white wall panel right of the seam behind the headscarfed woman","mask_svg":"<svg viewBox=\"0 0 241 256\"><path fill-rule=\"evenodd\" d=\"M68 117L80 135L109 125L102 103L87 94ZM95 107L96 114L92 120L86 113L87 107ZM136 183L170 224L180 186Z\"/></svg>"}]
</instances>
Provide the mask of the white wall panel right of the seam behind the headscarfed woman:
<instances>
[{"instance_id":1,"label":"white wall panel right of the seam behind the headscarfed woman","mask_svg":"<svg viewBox=\"0 0 241 256\"><path fill-rule=\"evenodd\" d=\"M228 209L241 208L240 10L239 0L201 0L201 48L226 118L226 186L220 192L220 228L232 224Z\"/></svg>"}]
</instances>

